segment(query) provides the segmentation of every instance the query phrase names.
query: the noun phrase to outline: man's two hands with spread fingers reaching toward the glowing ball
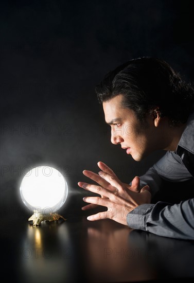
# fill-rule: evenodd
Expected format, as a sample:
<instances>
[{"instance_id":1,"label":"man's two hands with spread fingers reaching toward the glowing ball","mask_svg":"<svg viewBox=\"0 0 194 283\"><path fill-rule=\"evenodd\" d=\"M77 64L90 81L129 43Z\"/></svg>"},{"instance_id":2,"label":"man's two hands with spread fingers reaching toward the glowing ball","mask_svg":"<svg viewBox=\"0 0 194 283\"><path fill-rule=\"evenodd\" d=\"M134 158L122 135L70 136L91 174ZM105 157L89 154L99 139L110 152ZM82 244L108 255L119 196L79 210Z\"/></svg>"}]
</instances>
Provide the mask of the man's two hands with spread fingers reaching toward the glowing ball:
<instances>
[{"instance_id":1,"label":"man's two hands with spread fingers reaching toward the glowing ball","mask_svg":"<svg viewBox=\"0 0 194 283\"><path fill-rule=\"evenodd\" d=\"M92 191L100 197L85 197L83 200L90 203L82 209L94 207L94 205L102 205L108 208L107 211L97 213L87 217L94 221L99 219L113 219L118 223L127 225L127 214L140 204L150 203L151 193L149 186L145 186L140 190L139 178L135 177L132 185L122 183L115 173L104 163L98 162L99 168L102 170L99 174L92 171L84 170L83 174L98 185L78 182L78 185L85 190Z\"/></svg>"}]
</instances>

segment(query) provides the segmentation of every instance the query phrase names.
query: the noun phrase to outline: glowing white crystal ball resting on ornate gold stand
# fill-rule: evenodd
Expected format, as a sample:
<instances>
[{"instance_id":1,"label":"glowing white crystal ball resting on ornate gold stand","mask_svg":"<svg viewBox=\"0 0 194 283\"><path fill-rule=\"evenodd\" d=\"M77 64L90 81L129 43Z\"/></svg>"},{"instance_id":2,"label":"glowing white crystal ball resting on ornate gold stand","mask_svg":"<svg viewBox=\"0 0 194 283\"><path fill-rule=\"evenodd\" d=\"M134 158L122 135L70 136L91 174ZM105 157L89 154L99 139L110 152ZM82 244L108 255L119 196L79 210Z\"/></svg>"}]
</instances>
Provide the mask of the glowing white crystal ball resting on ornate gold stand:
<instances>
[{"instance_id":1,"label":"glowing white crystal ball resting on ornate gold stand","mask_svg":"<svg viewBox=\"0 0 194 283\"><path fill-rule=\"evenodd\" d=\"M25 174L20 194L24 204L32 210L50 208L55 213L66 201L68 187L57 169L39 166Z\"/></svg>"}]
</instances>

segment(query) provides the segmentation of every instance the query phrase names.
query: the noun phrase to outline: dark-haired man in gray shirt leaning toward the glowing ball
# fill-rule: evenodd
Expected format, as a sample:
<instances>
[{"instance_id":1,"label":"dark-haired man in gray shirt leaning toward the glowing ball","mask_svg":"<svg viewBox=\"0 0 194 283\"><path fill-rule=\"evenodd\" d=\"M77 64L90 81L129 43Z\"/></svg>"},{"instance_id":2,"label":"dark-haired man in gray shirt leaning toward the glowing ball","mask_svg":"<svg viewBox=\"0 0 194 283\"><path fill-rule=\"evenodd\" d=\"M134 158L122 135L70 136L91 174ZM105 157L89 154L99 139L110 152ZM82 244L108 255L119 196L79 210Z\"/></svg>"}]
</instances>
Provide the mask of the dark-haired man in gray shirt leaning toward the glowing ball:
<instances>
[{"instance_id":1,"label":"dark-haired man in gray shirt leaning toward the glowing ball","mask_svg":"<svg viewBox=\"0 0 194 283\"><path fill-rule=\"evenodd\" d=\"M155 150L166 154L143 176L122 183L104 163L99 174L83 174L98 185L79 182L101 197L85 197L89 209L107 211L87 217L113 219L134 229L170 238L194 239L194 199L171 204L151 203L162 181L183 182L194 177L194 92L168 63L143 57L118 66L96 87L111 141L140 161ZM171 170L169 170L169 168ZM183 184L184 186L184 184ZM170 188L169 188L170 189ZM186 188L183 188L186 189Z\"/></svg>"}]
</instances>

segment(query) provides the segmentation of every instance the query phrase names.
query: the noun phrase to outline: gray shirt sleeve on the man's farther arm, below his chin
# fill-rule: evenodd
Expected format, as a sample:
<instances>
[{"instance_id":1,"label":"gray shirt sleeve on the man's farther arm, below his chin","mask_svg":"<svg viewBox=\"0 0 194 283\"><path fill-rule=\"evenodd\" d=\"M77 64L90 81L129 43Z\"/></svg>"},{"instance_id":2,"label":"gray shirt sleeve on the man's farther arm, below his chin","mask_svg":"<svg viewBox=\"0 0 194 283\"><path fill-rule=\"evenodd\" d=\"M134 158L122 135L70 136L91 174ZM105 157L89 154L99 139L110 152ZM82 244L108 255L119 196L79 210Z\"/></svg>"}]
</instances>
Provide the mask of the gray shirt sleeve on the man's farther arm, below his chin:
<instances>
[{"instance_id":1,"label":"gray shirt sleeve on the man's farther arm, below his chin","mask_svg":"<svg viewBox=\"0 0 194 283\"><path fill-rule=\"evenodd\" d=\"M172 151L156 162L144 175L140 176L140 187L149 185L152 197L160 190L162 181L184 182L192 177L181 158ZM131 183L130 183L131 185Z\"/></svg>"}]
</instances>

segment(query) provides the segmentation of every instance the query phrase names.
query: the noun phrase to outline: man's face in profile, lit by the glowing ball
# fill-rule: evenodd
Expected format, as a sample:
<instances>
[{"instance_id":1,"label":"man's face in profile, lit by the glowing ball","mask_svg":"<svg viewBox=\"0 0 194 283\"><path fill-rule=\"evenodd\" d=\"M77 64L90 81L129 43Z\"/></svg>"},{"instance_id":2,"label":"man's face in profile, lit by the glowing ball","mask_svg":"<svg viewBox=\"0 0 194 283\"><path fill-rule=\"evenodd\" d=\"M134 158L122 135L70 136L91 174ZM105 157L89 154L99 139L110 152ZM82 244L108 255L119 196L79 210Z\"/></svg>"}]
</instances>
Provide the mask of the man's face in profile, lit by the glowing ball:
<instances>
[{"instance_id":1,"label":"man's face in profile, lit by the glowing ball","mask_svg":"<svg viewBox=\"0 0 194 283\"><path fill-rule=\"evenodd\" d=\"M117 95L103 102L105 121L111 126L111 142L120 144L135 161L140 161L156 149L154 121L150 116L146 124L140 122L133 110L121 105L122 98Z\"/></svg>"}]
</instances>

